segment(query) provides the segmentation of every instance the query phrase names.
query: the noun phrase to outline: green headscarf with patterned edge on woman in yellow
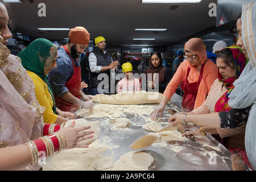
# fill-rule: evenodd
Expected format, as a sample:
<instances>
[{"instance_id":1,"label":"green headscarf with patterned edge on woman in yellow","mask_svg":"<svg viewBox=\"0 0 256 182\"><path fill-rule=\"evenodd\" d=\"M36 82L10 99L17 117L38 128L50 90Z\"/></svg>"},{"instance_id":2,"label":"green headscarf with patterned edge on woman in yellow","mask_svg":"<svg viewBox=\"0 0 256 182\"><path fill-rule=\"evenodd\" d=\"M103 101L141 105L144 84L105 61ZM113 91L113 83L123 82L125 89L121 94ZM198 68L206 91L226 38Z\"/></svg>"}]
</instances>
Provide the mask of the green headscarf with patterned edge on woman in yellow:
<instances>
[{"instance_id":1,"label":"green headscarf with patterned edge on woman in yellow","mask_svg":"<svg viewBox=\"0 0 256 182\"><path fill-rule=\"evenodd\" d=\"M49 82L47 81L46 73L52 65L57 49L57 46L47 39L36 39L30 43L26 49L18 53L18 56L22 60L23 67L27 71L34 72L47 83L48 91L53 100L52 110L55 114L57 113L55 98L51 85L49 85Z\"/></svg>"}]
</instances>

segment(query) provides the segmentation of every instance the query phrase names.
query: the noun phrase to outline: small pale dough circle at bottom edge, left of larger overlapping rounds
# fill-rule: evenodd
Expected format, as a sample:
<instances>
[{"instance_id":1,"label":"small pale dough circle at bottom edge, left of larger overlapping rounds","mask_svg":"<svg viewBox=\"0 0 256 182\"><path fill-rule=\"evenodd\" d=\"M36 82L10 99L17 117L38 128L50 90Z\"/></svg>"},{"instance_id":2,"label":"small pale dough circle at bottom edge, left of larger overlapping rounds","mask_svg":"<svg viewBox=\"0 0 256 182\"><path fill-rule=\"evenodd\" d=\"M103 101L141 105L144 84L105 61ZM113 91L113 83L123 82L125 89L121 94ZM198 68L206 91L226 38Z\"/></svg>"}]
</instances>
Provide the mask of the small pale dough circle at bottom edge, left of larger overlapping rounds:
<instances>
[{"instance_id":1,"label":"small pale dough circle at bottom edge, left of larger overlapping rounds","mask_svg":"<svg viewBox=\"0 0 256 182\"><path fill-rule=\"evenodd\" d=\"M96 171L110 171L114 167L114 161L109 156L104 156L97 159L94 163L94 169Z\"/></svg>"}]
</instances>

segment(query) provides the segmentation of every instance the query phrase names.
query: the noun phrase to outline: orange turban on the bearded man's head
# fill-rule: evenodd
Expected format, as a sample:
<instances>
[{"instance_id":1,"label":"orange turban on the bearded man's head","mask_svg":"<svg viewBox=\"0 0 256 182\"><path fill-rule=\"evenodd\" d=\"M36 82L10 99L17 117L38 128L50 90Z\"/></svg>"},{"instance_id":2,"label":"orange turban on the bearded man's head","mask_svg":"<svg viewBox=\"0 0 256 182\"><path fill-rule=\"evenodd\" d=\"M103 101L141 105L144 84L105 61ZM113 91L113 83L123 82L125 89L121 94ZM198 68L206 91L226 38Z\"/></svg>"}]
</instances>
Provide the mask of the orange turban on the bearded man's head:
<instances>
[{"instance_id":1,"label":"orange turban on the bearded man's head","mask_svg":"<svg viewBox=\"0 0 256 182\"><path fill-rule=\"evenodd\" d=\"M71 28L68 38L73 44L88 45L90 41L90 34L84 27Z\"/></svg>"}]
</instances>

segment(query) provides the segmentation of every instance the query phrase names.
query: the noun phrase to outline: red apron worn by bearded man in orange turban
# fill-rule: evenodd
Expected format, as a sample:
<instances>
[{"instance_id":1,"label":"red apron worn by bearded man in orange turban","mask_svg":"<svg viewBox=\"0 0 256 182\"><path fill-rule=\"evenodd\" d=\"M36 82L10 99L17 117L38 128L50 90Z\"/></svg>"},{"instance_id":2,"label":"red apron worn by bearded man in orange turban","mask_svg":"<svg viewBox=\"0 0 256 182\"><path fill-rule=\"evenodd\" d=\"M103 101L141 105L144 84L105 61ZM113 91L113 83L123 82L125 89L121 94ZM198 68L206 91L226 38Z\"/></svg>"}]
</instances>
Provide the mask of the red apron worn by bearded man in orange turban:
<instances>
[{"instance_id":1,"label":"red apron worn by bearded man in orange turban","mask_svg":"<svg viewBox=\"0 0 256 182\"><path fill-rule=\"evenodd\" d=\"M69 57L73 63L73 75L70 78L70 80L68 82L66 82L65 86L68 88L69 92L71 92L73 94L73 96L81 99L79 96L80 89L81 89L81 67L80 66L75 67L73 59L72 59L70 53L68 52L67 47L63 46L63 48L65 49L65 51L67 52L67 54L69 55ZM79 109L79 106L73 105L57 96L55 96L55 101L56 101L56 106L62 111L69 111L71 113L74 113L77 109Z\"/></svg>"}]
</instances>

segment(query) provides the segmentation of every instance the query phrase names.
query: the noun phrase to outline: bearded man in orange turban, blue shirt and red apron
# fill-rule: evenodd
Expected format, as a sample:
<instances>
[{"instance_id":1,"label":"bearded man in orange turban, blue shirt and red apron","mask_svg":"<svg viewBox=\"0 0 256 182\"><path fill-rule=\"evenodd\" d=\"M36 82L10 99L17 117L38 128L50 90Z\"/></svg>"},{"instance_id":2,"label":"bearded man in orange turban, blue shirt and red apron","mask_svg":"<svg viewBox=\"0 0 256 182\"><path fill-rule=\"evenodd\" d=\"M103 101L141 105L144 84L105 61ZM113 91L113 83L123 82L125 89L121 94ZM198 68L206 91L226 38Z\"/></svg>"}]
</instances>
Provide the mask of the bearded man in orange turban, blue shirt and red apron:
<instances>
[{"instance_id":1,"label":"bearded man in orange turban, blue shirt and red apron","mask_svg":"<svg viewBox=\"0 0 256 182\"><path fill-rule=\"evenodd\" d=\"M68 43L57 51L57 68L49 72L48 81L60 110L74 113L79 107L93 109L92 96L86 96L81 90L81 67L77 60L89 40L90 34L84 27L72 28Z\"/></svg>"}]
</instances>

